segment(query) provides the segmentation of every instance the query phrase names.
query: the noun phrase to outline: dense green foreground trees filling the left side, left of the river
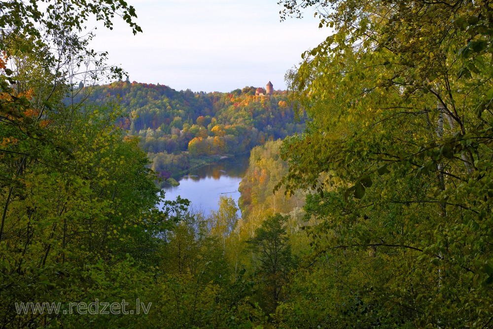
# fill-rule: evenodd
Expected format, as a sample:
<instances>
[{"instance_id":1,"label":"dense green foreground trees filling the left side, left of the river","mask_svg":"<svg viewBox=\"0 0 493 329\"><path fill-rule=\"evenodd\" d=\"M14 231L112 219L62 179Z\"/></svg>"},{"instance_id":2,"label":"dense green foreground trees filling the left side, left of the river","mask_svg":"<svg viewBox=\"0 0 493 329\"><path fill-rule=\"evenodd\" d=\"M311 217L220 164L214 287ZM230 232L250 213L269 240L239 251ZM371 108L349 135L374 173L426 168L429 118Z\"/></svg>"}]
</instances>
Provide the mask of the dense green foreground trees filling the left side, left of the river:
<instances>
[{"instance_id":1,"label":"dense green foreground trees filling the left side, left of the river","mask_svg":"<svg viewBox=\"0 0 493 329\"><path fill-rule=\"evenodd\" d=\"M160 241L151 232L164 218L146 154L114 125L122 116L114 104L62 102L78 92L85 60L95 60L92 72L122 73L77 37L91 15L140 28L124 1L38 2L0 6L0 326L81 327L84 316L17 314L15 303L130 300L151 283L142 267L154 259Z\"/></svg>"}]
</instances>

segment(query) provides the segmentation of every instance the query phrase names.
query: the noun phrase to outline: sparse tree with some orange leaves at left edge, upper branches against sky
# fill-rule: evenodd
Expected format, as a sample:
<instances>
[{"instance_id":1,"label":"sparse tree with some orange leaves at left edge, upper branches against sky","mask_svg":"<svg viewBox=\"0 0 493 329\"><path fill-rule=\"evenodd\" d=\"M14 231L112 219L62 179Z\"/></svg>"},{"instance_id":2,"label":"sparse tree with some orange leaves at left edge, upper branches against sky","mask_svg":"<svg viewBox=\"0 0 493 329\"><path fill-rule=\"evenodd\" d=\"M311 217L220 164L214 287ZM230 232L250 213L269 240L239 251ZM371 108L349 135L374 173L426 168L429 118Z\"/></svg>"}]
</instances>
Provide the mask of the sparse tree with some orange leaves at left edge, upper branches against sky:
<instances>
[{"instance_id":1,"label":"sparse tree with some orange leaves at left edge, upper branches against sky","mask_svg":"<svg viewBox=\"0 0 493 329\"><path fill-rule=\"evenodd\" d=\"M11 164L17 163L18 168L8 175L7 180L11 180L36 158L44 160L44 163L50 162L47 158L41 159L44 155L36 151L39 145L33 145L38 142L42 145L53 144L50 131L43 129L53 120L53 114L70 117L66 110L62 113L53 110L57 108L60 111L59 105L65 96L67 83L73 77L74 67L80 66L84 60L94 60L99 69L104 63L105 54L100 56L87 49L88 39L75 35L85 28L90 15L95 15L109 28L114 15L124 18L134 34L141 28L132 22L132 18L136 17L134 8L123 1L95 1L84 7L78 6L76 1L60 0L49 4L42 12L37 5L9 0L2 2L0 10L0 49L3 52L0 62L0 137L6 143L0 151ZM89 34L88 38L91 37ZM57 51L51 52L50 47ZM7 69L8 61L12 62L15 71ZM118 68L108 68L108 71L121 75ZM63 150L60 145L54 147ZM3 207L0 241L12 188L16 183L7 184L10 187Z\"/></svg>"}]
</instances>

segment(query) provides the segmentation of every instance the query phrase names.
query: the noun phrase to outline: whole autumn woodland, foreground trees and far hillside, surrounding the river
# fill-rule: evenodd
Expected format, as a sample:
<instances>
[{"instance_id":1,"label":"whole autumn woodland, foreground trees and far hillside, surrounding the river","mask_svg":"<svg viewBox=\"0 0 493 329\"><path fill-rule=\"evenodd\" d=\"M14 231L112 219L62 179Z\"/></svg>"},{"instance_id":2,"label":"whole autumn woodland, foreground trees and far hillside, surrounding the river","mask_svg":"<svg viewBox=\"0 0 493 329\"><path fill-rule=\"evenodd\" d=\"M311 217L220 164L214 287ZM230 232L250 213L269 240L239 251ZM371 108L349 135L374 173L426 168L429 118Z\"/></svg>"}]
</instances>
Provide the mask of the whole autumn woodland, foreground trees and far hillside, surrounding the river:
<instances>
[{"instance_id":1,"label":"whole autumn woodland, foreground trees and far hillside, surrounding the river","mask_svg":"<svg viewBox=\"0 0 493 329\"><path fill-rule=\"evenodd\" d=\"M265 97L124 81L85 27L136 8L39 2L0 2L1 328L493 327L492 1L280 0L330 33ZM236 149L241 218L164 201Z\"/></svg>"}]
</instances>

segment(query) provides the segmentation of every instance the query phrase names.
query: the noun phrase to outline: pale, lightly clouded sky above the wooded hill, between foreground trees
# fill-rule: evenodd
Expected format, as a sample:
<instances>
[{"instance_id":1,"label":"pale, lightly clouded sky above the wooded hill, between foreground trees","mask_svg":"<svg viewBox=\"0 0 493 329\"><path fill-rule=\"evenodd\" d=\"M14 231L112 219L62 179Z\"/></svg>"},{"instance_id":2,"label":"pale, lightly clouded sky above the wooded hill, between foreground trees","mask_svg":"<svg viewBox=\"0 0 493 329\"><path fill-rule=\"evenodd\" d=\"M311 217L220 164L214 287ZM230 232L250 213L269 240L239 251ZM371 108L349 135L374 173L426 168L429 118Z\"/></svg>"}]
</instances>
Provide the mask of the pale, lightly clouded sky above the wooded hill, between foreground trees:
<instances>
[{"instance_id":1,"label":"pale, lightly clouded sky above the wooded hill, between foreground trees","mask_svg":"<svg viewBox=\"0 0 493 329\"><path fill-rule=\"evenodd\" d=\"M176 90L229 92L245 86L284 90L284 74L329 32L313 12L280 22L277 0L128 0L136 8L136 36L114 19L98 27L92 47L108 51L130 81Z\"/></svg>"}]
</instances>

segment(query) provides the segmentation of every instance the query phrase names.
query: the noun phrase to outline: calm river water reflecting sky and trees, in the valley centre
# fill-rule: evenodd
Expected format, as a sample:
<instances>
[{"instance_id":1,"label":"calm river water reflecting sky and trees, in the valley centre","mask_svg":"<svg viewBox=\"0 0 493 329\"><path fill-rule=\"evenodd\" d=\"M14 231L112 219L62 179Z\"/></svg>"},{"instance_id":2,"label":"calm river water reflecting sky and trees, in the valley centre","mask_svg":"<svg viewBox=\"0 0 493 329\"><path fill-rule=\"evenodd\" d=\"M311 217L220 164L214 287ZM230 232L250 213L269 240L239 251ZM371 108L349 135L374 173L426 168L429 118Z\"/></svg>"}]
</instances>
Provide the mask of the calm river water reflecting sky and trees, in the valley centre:
<instances>
[{"instance_id":1,"label":"calm river water reflecting sky and trees, in the valley centre","mask_svg":"<svg viewBox=\"0 0 493 329\"><path fill-rule=\"evenodd\" d=\"M203 212L206 216L219 209L219 197L230 196L238 206L240 192L238 187L248 168L248 156L224 159L208 166L203 166L179 180L178 186L164 188L165 199L181 198L191 202L191 209ZM238 217L241 212L238 210Z\"/></svg>"}]
</instances>

